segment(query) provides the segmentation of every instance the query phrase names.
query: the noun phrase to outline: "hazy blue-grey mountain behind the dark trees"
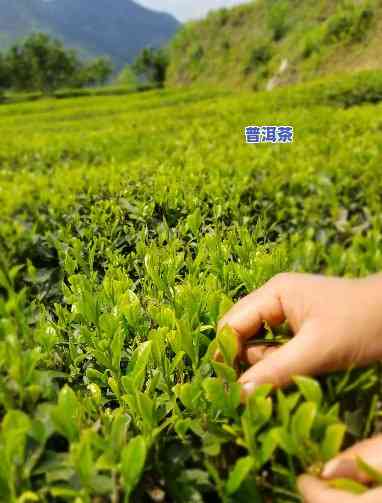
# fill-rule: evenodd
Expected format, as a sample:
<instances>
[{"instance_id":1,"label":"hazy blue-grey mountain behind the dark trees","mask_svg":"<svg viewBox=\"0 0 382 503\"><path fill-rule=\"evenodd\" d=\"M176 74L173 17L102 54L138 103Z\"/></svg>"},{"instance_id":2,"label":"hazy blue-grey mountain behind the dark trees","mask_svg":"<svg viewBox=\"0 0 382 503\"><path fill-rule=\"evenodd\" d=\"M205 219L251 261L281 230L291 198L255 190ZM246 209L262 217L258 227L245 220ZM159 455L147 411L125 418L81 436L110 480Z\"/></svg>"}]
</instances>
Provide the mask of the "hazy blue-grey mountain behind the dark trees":
<instances>
[{"instance_id":1,"label":"hazy blue-grey mountain behind the dark trees","mask_svg":"<svg viewBox=\"0 0 382 503\"><path fill-rule=\"evenodd\" d=\"M179 26L132 0L0 0L0 12L0 47L44 31L84 56L109 55L118 66L142 47L166 43Z\"/></svg>"}]
</instances>

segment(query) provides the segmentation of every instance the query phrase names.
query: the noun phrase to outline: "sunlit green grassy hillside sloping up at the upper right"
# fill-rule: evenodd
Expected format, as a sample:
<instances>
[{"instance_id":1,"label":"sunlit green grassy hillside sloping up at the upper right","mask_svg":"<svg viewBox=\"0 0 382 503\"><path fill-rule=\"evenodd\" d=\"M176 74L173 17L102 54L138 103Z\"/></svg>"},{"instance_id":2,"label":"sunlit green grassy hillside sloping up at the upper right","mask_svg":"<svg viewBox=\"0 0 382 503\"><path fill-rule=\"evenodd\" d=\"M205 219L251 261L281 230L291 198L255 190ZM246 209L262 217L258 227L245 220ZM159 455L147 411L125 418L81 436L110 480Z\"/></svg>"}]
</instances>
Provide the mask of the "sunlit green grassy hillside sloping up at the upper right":
<instances>
[{"instance_id":1,"label":"sunlit green grassy hillside sloping up at the upper right","mask_svg":"<svg viewBox=\"0 0 382 503\"><path fill-rule=\"evenodd\" d=\"M381 54L381 0L257 0L185 25L168 84L269 89L381 68Z\"/></svg>"}]
</instances>

